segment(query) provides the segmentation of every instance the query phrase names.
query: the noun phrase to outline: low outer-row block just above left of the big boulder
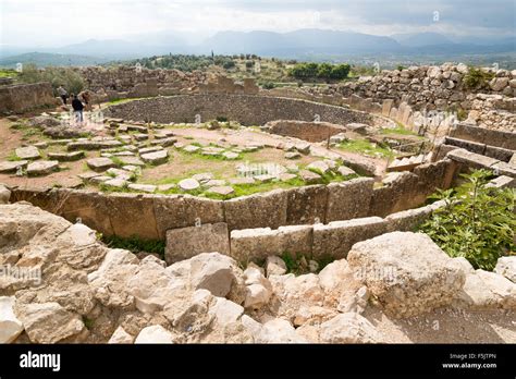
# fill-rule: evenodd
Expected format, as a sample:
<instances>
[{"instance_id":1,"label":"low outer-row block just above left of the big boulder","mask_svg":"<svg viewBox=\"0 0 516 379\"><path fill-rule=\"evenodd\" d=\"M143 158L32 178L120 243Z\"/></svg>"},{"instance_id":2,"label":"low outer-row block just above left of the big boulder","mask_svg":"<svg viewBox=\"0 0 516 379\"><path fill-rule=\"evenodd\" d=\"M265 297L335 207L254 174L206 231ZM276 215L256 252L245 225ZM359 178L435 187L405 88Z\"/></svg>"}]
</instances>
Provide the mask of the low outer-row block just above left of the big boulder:
<instances>
[{"instance_id":1,"label":"low outer-row block just above left of the big boulder","mask_svg":"<svg viewBox=\"0 0 516 379\"><path fill-rule=\"evenodd\" d=\"M355 243L384 233L386 225L379 217L315 224L312 254L315 257L345 258Z\"/></svg>"}]
</instances>

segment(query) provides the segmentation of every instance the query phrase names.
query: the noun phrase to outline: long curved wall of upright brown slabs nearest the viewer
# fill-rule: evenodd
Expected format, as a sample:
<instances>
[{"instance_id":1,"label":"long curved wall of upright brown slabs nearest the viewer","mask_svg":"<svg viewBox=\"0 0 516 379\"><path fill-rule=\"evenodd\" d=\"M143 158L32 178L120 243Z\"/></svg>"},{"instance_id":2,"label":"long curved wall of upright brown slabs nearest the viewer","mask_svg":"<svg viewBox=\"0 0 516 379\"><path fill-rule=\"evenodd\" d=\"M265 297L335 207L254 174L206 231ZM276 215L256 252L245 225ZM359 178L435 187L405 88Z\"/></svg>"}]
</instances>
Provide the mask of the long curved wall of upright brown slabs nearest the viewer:
<instances>
[{"instance_id":1,"label":"long curved wall of upright brown slabs nearest the viewer","mask_svg":"<svg viewBox=\"0 0 516 379\"><path fill-rule=\"evenodd\" d=\"M12 188L11 201L26 200L41 209L106 234L164 240L172 229L225 222L230 231L254 228L328 223L386 216L419 206L437 187L447 188L455 166L439 161L418 167L389 185L358 178L330 185L275 190L230 200L189 195L103 194L49 188Z\"/></svg>"}]
</instances>

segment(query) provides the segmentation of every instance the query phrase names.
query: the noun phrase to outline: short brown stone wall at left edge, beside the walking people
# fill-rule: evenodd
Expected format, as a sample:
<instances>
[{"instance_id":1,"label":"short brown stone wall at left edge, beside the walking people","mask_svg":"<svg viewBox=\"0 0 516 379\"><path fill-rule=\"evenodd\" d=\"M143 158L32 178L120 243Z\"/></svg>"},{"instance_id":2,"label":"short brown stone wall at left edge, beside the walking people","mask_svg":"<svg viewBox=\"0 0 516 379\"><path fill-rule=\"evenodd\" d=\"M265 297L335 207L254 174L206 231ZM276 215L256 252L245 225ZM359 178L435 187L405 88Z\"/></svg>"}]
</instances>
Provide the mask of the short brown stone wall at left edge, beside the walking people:
<instances>
[{"instance_id":1,"label":"short brown stone wall at left edge, beside the walking people","mask_svg":"<svg viewBox=\"0 0 516 379\"><path fill-rule=\"evenodd\" d=\"M17 84L0 87L0 113L23 113L40 107L56 106L50 83Z\"/></svg>"}]
</instances>

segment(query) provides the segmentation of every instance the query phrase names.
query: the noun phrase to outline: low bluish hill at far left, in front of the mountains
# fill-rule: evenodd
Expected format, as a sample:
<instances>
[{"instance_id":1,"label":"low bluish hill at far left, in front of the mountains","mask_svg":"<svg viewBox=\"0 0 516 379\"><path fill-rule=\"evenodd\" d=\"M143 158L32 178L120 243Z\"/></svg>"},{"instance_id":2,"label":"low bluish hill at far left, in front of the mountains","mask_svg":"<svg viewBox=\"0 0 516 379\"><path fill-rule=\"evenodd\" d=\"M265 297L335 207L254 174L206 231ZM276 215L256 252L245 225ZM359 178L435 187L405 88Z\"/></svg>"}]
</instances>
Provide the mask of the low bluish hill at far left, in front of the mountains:
<instances>
[{"instance_id":1,"label":"low bluish hill at far left, in front of the mountains","mask_svg":"<svg viewBox=\"0 0 516 379\"><path fill-rule=\"evenodd\" d=\"M0 59L0 65L14 68L16 63L34 63L38 66L49 65L96 65L106 63L102 58L77 56L77 54L59 54L49 52L27 52L23 54L12 56Z\"/></svg>"}]
</instances>

